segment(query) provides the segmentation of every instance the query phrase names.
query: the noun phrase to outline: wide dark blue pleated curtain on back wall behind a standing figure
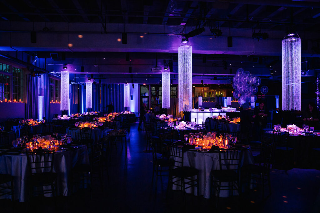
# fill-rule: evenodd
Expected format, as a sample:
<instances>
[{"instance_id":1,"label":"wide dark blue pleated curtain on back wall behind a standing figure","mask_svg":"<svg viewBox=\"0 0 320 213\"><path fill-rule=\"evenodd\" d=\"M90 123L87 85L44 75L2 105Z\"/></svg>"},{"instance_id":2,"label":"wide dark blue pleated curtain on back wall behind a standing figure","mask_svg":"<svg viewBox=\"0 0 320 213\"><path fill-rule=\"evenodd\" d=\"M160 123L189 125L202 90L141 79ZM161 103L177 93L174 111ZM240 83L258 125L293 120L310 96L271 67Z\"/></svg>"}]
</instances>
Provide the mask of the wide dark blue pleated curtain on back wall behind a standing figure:
<instances>
[{"instance_id":1,"label":"wide dark blue pleated curtain on back wall behind a standing figure","mask_svg":"<svg viewBox=\"0 0 320 213\"><path fill-rule=\"evenodd\" d=\"M101 84L101 108L99 84L92 87L92 110L107 111L108 105L112 102L114 112L124 110L124 84Z\"/></svg>"}]
</instances>

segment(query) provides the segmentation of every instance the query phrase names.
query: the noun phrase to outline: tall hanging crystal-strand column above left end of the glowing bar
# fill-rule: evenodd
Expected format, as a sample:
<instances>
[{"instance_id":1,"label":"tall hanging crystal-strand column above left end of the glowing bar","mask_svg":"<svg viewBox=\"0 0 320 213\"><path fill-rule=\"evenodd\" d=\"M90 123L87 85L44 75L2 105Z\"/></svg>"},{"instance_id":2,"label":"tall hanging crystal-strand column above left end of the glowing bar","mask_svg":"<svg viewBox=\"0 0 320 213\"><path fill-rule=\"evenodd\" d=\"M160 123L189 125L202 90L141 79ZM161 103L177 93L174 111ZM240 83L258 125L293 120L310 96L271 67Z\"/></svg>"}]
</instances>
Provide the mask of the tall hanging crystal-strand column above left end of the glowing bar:
<instances>
[{"instance_id":1,"label":"tall hanging crystal-strand column above left end of the glowing bar","mask_svg":"<svg viewBox=\"0 0 320 213\"><path fill-rule=\"evenodd\" d=\"M179 51L179 111L192 110L192 46L181 45Z\"/></svg>"}]
</instances>

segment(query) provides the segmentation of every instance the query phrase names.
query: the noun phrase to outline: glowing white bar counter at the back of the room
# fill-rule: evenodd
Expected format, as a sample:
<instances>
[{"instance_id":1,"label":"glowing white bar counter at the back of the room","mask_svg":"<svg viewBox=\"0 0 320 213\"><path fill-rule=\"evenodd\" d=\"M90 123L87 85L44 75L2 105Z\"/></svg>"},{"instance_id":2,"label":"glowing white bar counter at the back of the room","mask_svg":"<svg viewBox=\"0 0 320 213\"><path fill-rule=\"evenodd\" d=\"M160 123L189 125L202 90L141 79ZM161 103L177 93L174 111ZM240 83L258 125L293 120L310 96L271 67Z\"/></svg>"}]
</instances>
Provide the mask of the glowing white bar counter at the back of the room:
<instances>
[{"instance_id":1,"label":"glowing white bar counter at the back of the room","mask_svg":"<svg viewBox=\"0 0 320 213\"><path fill-rule=\"evenodd\" d=\"M217 108L210 108L209 110L196 110L193 109L190 112L190 118L191 121L194 121L196 118L197 124L202 124L202 122L205 121L207 118L212 118L212 116L218 116L218 115L226 115L227 112L240 112L237 111L236 108L229 108L229 107L223 107L221 110L218 110Z\"/></svg>"}]
</instances>

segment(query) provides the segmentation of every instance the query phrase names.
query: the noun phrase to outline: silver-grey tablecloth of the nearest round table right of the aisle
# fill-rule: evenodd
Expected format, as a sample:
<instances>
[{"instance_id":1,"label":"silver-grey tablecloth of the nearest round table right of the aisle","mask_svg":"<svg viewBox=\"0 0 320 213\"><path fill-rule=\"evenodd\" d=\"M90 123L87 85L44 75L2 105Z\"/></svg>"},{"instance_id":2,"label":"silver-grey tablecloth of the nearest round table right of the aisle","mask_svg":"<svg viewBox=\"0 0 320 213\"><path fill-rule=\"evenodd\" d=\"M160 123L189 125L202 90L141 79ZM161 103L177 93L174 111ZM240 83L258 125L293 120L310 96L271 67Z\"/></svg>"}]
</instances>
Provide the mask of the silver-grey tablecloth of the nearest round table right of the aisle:
<instances>
[{"instance_id":1,"label":"silver-grey tablecloth of the nearest round table right of the aisle","mask_svg":"<svg viewBox=\"0 0 320 213\"><path fill-rule=\"evenodd\" d=\"M182 151L182 149L180 149ZM248 148L243 149L244 153L241 159L241 165L254 164L254 159L251 150ZM211 178L210 174L212 170L219 170L219 153L218 152L199 152L199 151L187 151L184 153L183 166L189 166L199 170L199 193L204 198L209 199L211 196ZM227 186L228 183L221 183L221 186ZM179 186L173 185L173 190L180 190ZM194 193L197 196L197 190L195 187L186 189L186 193ZM220 197L229 197L231 190L221 190ZM234 190L234 195L238 194L237 190Z\"/></svg>"}]
</instances>

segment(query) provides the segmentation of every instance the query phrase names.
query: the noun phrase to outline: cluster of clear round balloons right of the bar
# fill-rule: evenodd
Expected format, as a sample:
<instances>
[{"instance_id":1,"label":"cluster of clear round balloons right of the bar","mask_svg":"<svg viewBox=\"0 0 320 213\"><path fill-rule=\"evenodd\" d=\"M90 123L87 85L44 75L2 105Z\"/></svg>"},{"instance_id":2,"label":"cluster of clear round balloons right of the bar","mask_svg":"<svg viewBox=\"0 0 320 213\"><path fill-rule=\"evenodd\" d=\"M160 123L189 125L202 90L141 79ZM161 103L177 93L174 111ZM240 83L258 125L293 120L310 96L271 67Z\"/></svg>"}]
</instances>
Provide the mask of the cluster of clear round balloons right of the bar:
<instances>
[{"instance_id":1,"label":"cluster of clear round balloons right of the bar","mask_svg":"<svg viewBox=\"0 0 320 213\"><path fill-rule=\"evenodd\" d=\"M260 77L254 76L249 71L244 71L242 68L239 68L235 77L233 77L232 87L235 89L235 91L233 91L233 97L238 99L240 105L243 103L253 103L257 100L255 94L259 91L258 86L260 84ZM260 91L266 95L268 87L262 86Z\"/></svg>"}]
</instances>

